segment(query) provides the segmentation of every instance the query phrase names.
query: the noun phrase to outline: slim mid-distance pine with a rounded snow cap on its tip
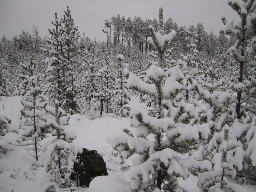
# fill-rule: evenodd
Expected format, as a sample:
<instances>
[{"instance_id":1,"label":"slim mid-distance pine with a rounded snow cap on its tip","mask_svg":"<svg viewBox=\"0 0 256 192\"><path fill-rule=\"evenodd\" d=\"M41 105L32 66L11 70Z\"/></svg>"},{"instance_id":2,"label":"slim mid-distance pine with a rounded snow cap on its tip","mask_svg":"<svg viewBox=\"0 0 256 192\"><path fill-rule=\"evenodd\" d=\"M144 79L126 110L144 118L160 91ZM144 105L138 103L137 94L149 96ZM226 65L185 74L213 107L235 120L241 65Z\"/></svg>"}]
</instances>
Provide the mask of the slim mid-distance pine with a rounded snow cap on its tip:
<instances>
[{"instance_id":1,"label":"slim mid-distance pine with a rounded snow cap on its tip","mask_svg":"<svg viewBox=\"0 0 256 192\"><path fill-rule=\"evenodd\" d=\"M126 80L124 79L124 66L123 66L124 56L119 54L116 56L117 66L118 66L118 77L115 82L115 90L112 92L114 96L114 114L120 117L128 117L130 108L129 100L130 96L128 90L125 86Z\"/></svg>"}]
</instances>

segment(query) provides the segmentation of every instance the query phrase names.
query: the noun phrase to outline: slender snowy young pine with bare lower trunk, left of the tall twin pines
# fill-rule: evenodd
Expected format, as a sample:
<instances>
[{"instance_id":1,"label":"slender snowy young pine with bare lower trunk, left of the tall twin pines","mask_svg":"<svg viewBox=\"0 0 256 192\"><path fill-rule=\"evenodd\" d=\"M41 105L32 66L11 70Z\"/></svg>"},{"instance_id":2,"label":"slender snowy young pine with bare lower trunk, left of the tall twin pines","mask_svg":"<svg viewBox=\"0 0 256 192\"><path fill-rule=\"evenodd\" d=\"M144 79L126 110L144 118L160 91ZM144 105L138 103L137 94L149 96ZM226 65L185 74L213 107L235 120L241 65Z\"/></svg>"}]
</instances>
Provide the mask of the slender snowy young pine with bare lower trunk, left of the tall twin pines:
<instances>
[{"instance_id":1,"label":"slender snowy young pine with bare lower trunk, left of the tall twin pines","mask_svg":"<svg viewBox=\"0 0 256 192\"><path fill-rule=\"evenodd\" d=\"M20 127L24 130L22 132L22 138L26 141L26 146L32 145L35 152L35 158L38 161L38 152L40 151L40 140L45 138L48 133L46 126L46 97L42 95L40 89L40 83L42 78L36 74L36 63L30 56L27 64L20 64L22 69L28 72L28 75L20 74L23 78L22 86L22 99L20 100L23 105L21 112Z\"/></svg>"}]
</instances>

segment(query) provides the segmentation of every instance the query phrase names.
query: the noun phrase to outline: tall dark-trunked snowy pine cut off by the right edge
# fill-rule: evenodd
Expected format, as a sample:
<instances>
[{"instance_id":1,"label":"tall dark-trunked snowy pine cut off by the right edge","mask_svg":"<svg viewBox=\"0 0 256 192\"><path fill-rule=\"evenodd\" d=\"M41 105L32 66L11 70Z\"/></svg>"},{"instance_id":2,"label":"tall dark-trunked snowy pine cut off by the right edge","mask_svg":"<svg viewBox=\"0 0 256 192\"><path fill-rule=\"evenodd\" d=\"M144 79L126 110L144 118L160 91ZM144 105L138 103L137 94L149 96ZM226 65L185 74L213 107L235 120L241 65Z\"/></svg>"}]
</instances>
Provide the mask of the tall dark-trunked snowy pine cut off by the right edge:
<instances>
[{"instance_id":1,"label":"tall dark-trunked snowy pine cut off by the right edge","mask_svg":"<svg viewBox=\"0 0 256 192\"><path fill-rule=\"evenodd\" d=\"M236 38L234 46L230 48L234 56L238 71L236 81L230 85L237 93L236 117L242 119L244 112L250 106L250 99L255 94L254 65L251 64L252 58L256 54L256 6L254 0L231 0L228 5L234 9L240 17L236 21L227 22L222 18L224 27L220 31L223 34L231 35ZM247 106L247 107L244 107Z\"/></svg>"}]
</instances>

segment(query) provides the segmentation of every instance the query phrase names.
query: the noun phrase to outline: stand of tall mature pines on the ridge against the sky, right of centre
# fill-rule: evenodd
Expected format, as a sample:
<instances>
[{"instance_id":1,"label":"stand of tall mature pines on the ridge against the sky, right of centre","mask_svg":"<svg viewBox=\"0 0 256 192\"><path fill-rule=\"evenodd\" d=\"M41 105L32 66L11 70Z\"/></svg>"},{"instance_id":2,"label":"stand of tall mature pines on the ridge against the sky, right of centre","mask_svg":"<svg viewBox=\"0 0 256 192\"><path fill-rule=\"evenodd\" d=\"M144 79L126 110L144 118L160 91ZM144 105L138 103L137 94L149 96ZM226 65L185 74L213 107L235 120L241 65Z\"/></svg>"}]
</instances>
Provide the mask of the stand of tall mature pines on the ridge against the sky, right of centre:
<instances>
[{"instance_id":1,"label":"stand of tall mature pines on the ridge against the sky, right of centre","mask_svg":"<svg viewBox=\"0 0 256 192\"><path fill-rule=\"evenodd\" d=\"M158 20L146 19L143 21L140 17L134 16L133 19L128 17L127 19L124 16L111 17L111 19L106 19L104 21L104 29L102 30L107 37L107 42L118 47L122 45L128 46L138 46L142 54L147 54L152 51L152 47L147 43L147 38L150 36L149 26L152 25L154 30L158 31L161 28L161 24L158 23ZM234 44L234 39L231 37L230 40L226 40L225 35L219 34L218 36L214 35L212 30L208 34L204 30L203 23L198 23L196 26L178 26L178 24L168 18L163 24L164 34L169 34L171 30L177 32L176 39L174 40L176 45L180 44L180 51L186 51L186 30L190 32L196 32L197 37L197 48L199 52L205 52L210 58L214 56L218 48L223 45L230 47Z\"/></svg>"}]
</instances>

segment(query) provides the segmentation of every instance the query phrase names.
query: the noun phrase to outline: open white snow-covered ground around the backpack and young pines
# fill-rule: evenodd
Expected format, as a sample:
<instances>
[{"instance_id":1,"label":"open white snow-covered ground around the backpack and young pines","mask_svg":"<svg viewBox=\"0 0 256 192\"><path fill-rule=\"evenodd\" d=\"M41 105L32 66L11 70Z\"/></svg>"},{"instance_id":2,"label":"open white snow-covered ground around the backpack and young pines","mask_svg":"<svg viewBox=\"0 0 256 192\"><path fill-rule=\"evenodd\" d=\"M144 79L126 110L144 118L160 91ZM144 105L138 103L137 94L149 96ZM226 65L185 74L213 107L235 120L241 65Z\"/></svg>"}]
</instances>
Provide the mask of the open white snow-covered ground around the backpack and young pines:
<instances>
[{"instance_id":1,"label":"open white snow-covered ground around the backpack and young pines","mask_svg":"<svg viewBox=\"0 0 256 192\"><path fill-rule=\"evenodd\" d=\"M20 118L20 98L2 97L0 100L0 113L12 120L12 128L18 128ZM120 128L129 128L129 118L112 118L109 114L103 114L102 118L88 120L81 115L72 115L68 129L77 133L74 142L80 144L82 148L97 150L106 162L110 176L101 176L95 178L90 188L80 188L80 192L130 192L128 172L120 165L120 159L113 156L112 148L106 142L105 137L109 134L122 133ZM0 192L40 192L44 185L49 181L48 175L44 168L37 165L32 156L28 154L25 147L7 144L11 138L18 134L9 133L4 138L0 138L0 144L8 145L10 150L0 158ZM48 140L50 138L46 138ZM42 141L43 142L43 141ZM41 143L42 143L41 142ZM40 159L40 158L39 158ZM200 192L196 186L197 178L190 176L187 180L179 180L180 186L189 192ZM231 181L234 184L234 181ZM237 185L237 184L234 184ZM255 192L256 186L237 185L247 192ZM241 189L241 190L242 190ZM78 190L77 190L78 191Z\"/></svg>"}]
</instances>

